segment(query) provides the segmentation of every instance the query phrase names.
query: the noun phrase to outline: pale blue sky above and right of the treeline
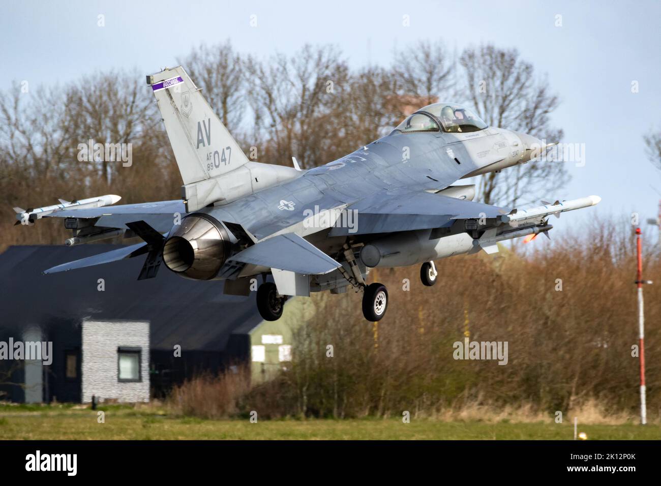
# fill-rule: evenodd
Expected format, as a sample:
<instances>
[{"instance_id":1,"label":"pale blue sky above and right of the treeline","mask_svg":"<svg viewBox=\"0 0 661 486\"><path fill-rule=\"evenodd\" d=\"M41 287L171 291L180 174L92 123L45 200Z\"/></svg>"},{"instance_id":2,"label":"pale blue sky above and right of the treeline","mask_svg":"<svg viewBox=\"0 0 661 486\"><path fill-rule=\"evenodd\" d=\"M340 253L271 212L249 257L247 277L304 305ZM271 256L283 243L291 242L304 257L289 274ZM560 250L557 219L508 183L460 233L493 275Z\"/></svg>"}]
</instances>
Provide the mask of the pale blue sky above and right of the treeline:
<instances>
[{"instance_id":1,"label":"pale blue sky above and right of the treeline","mask_svg":"<svg viewBox=\"0 0 661 486\"><path fill-rule=\"evenodd\" d=\"M0 89L98 69L153 73L201 42L227 38L258 56L336 44L356 66L386 65L393 48L422 39L457 50L481 42L518 48L561 96L553 124L563 128L563 142L586 144L586 165L568 164L572 182L540 197L602 196L574 221L633 211L656 217L661 199L661 172L642 143L652 126L661 130L660 1L22 1L3 5L0 38ZM639 93L631 93L632 81Z\"/></svg>"}]
</instances>

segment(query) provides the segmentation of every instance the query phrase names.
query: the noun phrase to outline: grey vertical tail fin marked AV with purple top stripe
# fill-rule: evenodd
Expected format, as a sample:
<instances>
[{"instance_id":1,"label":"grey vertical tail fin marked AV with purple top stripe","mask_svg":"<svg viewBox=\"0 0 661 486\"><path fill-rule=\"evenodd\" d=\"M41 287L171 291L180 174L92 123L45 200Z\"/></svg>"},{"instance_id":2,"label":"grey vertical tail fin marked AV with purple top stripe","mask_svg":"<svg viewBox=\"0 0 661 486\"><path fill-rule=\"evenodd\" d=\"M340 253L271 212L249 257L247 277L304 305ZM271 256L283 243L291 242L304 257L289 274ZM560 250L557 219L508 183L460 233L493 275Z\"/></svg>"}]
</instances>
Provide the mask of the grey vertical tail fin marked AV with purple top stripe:
<instances>
[{"instance_id":1,"label":"grey vertical tail fin marked AV with purple top stripe","mask_svg":"<svg viewBox=\"0 0 661 486\"><path fill-rule=\"evenodd\" d=\"M239 144L181 66L147 76L184 184L228 173L248 162Z\"/></svg>"}]
</instances>

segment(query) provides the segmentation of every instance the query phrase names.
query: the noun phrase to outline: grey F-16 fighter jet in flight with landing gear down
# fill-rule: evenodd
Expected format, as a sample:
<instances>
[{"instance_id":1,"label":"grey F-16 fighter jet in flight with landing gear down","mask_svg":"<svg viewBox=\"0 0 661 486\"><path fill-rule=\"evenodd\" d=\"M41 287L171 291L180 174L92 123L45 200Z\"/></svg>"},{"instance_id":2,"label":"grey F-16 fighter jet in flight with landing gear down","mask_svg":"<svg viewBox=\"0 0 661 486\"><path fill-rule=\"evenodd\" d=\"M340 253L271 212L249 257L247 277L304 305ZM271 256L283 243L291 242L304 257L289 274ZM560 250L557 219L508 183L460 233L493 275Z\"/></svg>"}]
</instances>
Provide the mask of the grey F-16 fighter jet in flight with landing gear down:
<instances>
[{"instance_id":1,"label":"grey F-16 fighter jet in flight with landing gear down","mask_svg":"<svg viewBox=\"0 0 661 486\"><path fill-rule=\"evenodd\" d=\"M45 273L146 255L139 280L162 263L185 278L225 280L225 294L248 296L261 280L256 305L269 321L291 296L348 288L363 292L364 317L379 321L388 292L367 283L371 268L420 264L432 286L434 260L495 253L499 241L547 234L551 215L600 201L530 210L474 202L475 186L459 179L534 163L545 145L452 102L424 106L387 136L301 170L295 159L294 167L250 161L181 66L147 76L147 85L181 173L181 200L44 214L65 218L73 243L118 233L143 240Z\"/></svg>"}]
</instances>

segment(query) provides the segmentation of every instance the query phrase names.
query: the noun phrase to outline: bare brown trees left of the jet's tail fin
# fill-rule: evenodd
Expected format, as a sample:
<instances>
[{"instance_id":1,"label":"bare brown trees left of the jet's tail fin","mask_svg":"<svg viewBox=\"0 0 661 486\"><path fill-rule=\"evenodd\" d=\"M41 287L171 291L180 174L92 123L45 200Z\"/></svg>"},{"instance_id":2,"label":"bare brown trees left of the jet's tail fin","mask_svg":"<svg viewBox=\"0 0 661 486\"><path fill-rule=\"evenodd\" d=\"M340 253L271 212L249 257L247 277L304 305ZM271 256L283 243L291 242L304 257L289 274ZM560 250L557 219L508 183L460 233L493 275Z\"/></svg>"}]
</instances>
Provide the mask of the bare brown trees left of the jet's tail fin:
<instances>
[{"instance_id":1,"label":"bare brown trees left of the jet's tail fin","mask_svg":"<svg viewBox=\"0 0 661 486\"><path fill-rule=\"evenodd\" d=\"M60 197L106 194L111 184L126 202L176 197L180 176L151 90L142 79L137 73L96 73L64 86L36 87L25 93L15 85L0 93L3 206L29 207ZM116 147L114 160L106 157L105 150L101 159L79 160L79 144L87 146L90 139L130 143L132 165L122 165ZM147 180L151 184L145 184ZM11 218L5 220L11 226ZM0 242L61 242L65 233L59 225L54 230L54 224L24 232L0 222Z\"/></svg>"}]
</instances>

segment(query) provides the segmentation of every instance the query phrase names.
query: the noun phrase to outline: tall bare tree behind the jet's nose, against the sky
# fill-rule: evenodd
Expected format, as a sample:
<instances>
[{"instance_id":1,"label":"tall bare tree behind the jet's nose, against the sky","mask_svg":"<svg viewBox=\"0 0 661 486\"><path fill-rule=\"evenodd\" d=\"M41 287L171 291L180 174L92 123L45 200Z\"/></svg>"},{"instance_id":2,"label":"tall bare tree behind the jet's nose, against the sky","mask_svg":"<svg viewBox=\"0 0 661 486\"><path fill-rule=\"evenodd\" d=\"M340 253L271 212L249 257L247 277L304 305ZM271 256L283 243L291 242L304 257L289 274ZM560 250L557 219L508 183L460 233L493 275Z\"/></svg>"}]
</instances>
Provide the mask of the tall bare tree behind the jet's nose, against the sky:
<instances>
[{"instance_id":1,"label":"tall bare tree behind the jet's nose, against the sky","mask_svg":"<svg viewBox=\"0 0 661 486\"><path fill-rule=\"evenodd\" d=\"M531 63L519 58L516 49L492 45L465 50L459 58L463 67L463 91L468 101L490 126L508 128L558 142L562 130L551 127L549 114L559 99L547 79L536 77ZM512 173L514 171L514 173ZM568 182L569 175L559 161L528 163L499 173L482 176L479 193L486 204L529 202L534 194L553 192Z\"/></svg>"}]
</instances>

